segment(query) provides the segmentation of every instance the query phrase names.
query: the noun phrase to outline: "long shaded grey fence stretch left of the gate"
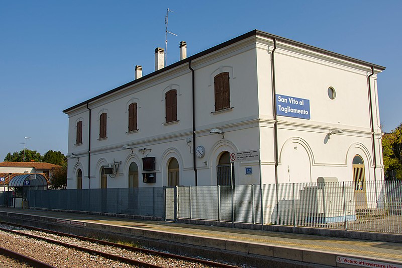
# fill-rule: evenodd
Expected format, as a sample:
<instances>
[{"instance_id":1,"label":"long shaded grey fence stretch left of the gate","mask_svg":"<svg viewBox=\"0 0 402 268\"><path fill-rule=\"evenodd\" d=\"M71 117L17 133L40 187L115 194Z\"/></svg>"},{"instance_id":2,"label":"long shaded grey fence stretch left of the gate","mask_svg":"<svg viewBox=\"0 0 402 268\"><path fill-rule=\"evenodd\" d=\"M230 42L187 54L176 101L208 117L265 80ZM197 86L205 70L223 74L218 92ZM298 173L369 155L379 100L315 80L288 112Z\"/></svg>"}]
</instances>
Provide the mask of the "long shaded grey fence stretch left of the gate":
<instances>
[{"instance_id":1,"label":"long shaded grey fence stretch left of the gate","mask_svg":"<svg viewBox=\"0 0 402 268\"><path fill-rule=\"evenodd\" d=\"M164 188L36 190L28 192L31 208L136 216L165 215Z\"/></svg>"}]
</instances>

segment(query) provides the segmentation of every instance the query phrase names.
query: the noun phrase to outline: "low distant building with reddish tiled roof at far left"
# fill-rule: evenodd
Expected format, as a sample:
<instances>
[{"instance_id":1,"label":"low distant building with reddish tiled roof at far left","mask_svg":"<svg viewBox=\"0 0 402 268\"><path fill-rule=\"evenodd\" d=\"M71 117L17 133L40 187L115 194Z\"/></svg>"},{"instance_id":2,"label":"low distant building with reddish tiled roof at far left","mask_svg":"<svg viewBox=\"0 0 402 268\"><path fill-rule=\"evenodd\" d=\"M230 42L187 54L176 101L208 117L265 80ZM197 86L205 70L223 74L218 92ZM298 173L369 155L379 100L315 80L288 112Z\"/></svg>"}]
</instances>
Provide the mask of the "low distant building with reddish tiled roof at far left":
<instances>
[{"instance_id":1,"label":"low distant building with reddish tiled roof at far left","mask_svg":"<svg viewBox=\"0 0 402 268\"><path fill-rule=\"evenodd\" d=\"M42 162L0 162L0 173L44 173L49 178L60 165Z\"/></svg>"}]
</instances>

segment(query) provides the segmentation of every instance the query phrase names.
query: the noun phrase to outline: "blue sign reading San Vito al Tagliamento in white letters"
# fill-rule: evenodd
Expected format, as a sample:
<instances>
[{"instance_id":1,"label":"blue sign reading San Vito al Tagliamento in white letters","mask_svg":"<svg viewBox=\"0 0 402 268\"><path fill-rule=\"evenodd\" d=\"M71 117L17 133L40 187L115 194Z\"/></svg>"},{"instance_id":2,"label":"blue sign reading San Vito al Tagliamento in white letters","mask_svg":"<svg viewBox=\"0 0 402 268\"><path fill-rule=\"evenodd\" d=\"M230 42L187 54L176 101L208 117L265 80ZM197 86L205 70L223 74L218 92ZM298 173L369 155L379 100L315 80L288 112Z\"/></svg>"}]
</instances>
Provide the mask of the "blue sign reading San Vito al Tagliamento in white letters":
<instances>
[{"instance_id":1,"label":"blue sign reading San Vito al Tagliamento in white letters","mask_svg":"<svg viewBox=\"0 0 402 268\"><path fill-rule=\"evenodd\" d=\"M310 100L279 94L275 98L276 115L310 119Z\"/></svg>"}]
</instances>

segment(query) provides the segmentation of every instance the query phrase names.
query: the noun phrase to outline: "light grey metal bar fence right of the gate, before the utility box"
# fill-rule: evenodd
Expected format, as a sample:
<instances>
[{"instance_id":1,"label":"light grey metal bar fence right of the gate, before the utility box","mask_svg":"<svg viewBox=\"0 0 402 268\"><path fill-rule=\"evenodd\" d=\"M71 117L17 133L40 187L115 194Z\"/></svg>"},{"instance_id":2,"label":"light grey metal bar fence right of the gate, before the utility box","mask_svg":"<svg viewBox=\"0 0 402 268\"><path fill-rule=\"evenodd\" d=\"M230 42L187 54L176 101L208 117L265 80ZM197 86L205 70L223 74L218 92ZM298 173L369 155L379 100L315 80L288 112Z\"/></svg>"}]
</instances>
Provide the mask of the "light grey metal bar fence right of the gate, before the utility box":
<instances>
[{"instance_id":1,"label":"light grey metal bar fence right of the gate, before the utility box","mask_svg":"<svg viewBox=\"0 0 402 268\"><path fill-rule=\"evenodd\" d=\"M400 181L177 187L176 192L180 219L402 233Z\"/></svg>"}]
</instances>

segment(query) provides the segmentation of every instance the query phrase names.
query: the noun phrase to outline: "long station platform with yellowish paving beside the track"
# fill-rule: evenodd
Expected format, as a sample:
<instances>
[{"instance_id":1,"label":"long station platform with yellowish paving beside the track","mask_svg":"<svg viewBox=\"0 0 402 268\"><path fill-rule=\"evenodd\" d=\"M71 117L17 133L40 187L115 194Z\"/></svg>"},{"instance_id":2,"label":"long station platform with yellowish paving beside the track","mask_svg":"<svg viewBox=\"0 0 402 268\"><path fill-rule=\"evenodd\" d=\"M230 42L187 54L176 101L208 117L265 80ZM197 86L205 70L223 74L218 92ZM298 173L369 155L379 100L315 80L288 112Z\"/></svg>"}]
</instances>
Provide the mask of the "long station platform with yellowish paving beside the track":
<instances>
[{"instance_id":1,"label":"long station platform with yellowish paving beside the track","mask_svg":"<svg viewBox=\"0 0 402 268\"><path fill-rule=\"evenodd\" d=\"M381 242L5 207L0 219L259 267L402 268L400 235Z\"/></svg>"}]
</instances>

